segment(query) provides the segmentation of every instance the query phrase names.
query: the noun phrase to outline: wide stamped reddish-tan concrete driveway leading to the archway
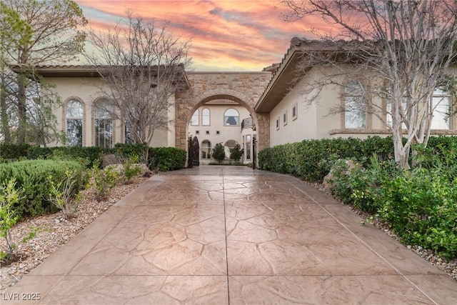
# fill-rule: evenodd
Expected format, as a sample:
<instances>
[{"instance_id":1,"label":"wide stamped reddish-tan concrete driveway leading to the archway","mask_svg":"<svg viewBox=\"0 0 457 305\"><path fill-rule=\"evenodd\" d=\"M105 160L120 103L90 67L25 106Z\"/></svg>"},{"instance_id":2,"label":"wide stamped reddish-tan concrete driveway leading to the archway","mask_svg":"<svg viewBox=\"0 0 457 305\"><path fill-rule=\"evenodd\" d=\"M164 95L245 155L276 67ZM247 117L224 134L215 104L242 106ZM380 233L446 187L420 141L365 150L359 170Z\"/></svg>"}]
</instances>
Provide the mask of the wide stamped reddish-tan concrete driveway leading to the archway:
<instances>
[{"instance_id":1,"label":"wide stamped reddish-tan concrete driveway leading to the archway","mask_svg":"<svg viewBox=\"0 0 457 305\"><path fill-rule=\"evenodd\" d=\"M457 281L298 179L200 166L151 177L1 296L36 303L457 304Z\"/></svg>"}]
</instances>

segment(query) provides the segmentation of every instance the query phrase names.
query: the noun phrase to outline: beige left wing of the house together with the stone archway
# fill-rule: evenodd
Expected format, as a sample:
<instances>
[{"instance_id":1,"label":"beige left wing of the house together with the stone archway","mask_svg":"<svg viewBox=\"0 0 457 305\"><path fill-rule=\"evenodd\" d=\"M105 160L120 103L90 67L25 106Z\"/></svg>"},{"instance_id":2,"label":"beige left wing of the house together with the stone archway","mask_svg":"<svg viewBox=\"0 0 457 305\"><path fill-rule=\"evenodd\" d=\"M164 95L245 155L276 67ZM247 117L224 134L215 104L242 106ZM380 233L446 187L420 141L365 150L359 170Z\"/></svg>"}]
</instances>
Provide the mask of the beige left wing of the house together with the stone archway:
<instances>
[{"instance_id":1,"label":"beige left wing of the house together with the stone archway","mask_svg":"<svg viewBox=\"0 0 457 305\"><path fill-rule=\"evenodd\" d=\"M110 96L103 92L106 84L95 66L36 66L35 71L61 96L62 106L56 109L57 128L66 134L66 145L112 147L116 143L130 143L131 135L121 116L110 104ZM15 69L13 67L13 69ZM189 82L188 75L191 76ZM175 92L169 97L173 106L167 111L166 129L154 131L149 146L182 145L189 136L198 141L196 154L200 164L215 161L211 150L218 143L224 145L226 160L230 149L236 144L244 150L242 160L250 163L252 145L256 137L254 114L255 100L270 77L269 72L202 72L186 73L178 77L186 90L194 96L179 96ZM244 81L241 81L243 79ZM256 84L251 84L255 82ZM190 89L190 86L195 88ZM209 88L212 88L211 90ZM184 94L185 95L185 94ZM181 99L181 101L179 101ZM185 106L183 106L183 104ZM190 111L189 111L190 110ZM176 128L183 125L186 128ZM181 144L181 146L180 146ZM61 145L49 143L49 146Z\"/></svg>"}]
</instances>

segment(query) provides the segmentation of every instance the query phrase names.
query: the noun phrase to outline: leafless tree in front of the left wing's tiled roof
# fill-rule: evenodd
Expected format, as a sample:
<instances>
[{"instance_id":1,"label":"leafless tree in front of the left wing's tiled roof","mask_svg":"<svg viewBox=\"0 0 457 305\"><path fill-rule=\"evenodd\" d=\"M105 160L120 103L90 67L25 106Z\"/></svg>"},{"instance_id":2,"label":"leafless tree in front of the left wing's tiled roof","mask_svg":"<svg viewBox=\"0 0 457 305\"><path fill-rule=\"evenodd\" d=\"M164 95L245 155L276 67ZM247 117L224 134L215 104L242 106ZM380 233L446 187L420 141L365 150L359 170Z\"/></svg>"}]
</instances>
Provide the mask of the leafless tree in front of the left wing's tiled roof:
<instances>
[{"instance_id":1,"label":"leafless tree in front of the left wing's tiled roof","mask_svg":"<svg viewBox=\"0 0 457 305\"><path fill-rule=\"evenodd\" d=\"M93 54L86 54L102 81L99 91L110 98L104 110L121 119L134 143L151 143L156 130L166 130L174 97L189 89L190 41L169 34L169 24L154 20L126 19L108 32L89 31Z\"/></svg>"}]
</instances>

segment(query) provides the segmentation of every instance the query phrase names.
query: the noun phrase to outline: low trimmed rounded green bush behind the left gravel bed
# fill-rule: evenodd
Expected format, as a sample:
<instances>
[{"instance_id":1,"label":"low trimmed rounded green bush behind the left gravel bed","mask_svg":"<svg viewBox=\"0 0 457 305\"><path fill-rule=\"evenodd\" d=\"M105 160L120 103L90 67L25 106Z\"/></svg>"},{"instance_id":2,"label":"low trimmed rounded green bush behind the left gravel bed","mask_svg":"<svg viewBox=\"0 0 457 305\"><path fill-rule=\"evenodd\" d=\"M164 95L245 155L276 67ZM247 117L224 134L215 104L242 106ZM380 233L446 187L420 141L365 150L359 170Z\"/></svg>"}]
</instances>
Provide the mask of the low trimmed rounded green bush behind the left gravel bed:
<instances>
[{"instance_id":1,"label":"low trimmed rounded green bush behind the left gravel bed","mask_svg":"<svg viewBox=\"0 0 457 305\"><path fill-rule=\"evenodd\" d=\"M16 180L16 189L24 189L21 200L14 205L19 219L25 216L38 216L57 211L49 201L51 184L48 179L52 176L54 184L63 181L66 171L75 171L78 177L75 188L81 189L83 183L82 171L84 166L76 161L26 160L0 164L0 181ZM77 192L76 191L76 192Z\"/></svg>"}]
</instances>

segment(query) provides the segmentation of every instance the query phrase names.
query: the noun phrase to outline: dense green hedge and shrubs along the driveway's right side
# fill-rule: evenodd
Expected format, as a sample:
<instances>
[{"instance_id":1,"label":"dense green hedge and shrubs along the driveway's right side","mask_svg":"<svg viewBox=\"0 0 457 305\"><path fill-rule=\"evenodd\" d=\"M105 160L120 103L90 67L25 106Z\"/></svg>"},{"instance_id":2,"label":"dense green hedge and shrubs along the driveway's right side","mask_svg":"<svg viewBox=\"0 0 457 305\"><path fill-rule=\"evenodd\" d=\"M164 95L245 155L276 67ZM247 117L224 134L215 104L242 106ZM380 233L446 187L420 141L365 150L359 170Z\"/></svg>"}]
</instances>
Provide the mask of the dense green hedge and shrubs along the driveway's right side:
<instances>
[{"instance_id":1,"label":"dense green hedge and shrubs along the driveway's right side","mask_svg":"<svg viewBox=\"0 0 457 305\"><path fill-rule=\"evenodd\" d=\"M413 146L408 170L393 160L391 139L377 136L275 146L260 151L258 160L261 169L311 182L322 182L332 171L333 196L383 221L404 244L457 259L456 137Z\"/></svg>"}]
</instances>

